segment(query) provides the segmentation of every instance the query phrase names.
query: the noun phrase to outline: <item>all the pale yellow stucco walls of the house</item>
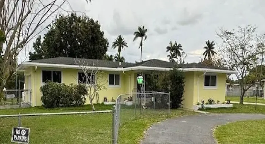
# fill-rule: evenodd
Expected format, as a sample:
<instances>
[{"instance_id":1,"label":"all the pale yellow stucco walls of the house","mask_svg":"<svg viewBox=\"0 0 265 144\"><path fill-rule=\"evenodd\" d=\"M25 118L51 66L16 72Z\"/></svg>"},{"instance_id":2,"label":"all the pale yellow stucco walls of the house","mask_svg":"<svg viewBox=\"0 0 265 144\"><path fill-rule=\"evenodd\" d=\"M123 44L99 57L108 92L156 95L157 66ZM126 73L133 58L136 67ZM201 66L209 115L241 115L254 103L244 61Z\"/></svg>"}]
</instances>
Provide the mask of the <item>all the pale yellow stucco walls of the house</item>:
<instances>
[{"instance_id":1,"label":"all the pale yellow stucco walls of the house","mask_svg":"<svg viewBox=\"0 0 265 144\"><path fill-rule=\"evenodd\" d=\"M41 93L40 87L42 86L42 70L58 70L62 72L62 83L69 85L71 83L78 83L78 72L81 70L76 69L56 69L56 68L43 68L29 67L25 70L25 86L28 89L28 78L31 80L32 89L32 106L40 106L42 102L40 100ZM120 87L109 86L108 79L109 74L120 74ZM206 89L204 88L204 76L203 72L185 72L185 87L184 87L184 107L193 108L198 100L208 101L209 98L213 98L215 101L220 100L225 101L225 79L226 74L217 74L217 88L216 89ZM107 100L111 101L112 98L116 99L120 94L132 93L133 89L136 88L136 72L109 72L105 71L102 79L105 83L107 90L99 91L99 102L103 102L103 97L107 96ZM199 77L199 87L198 87L198 76ZM199 89L198 89L199 88ZM199 92L199 99L198 99ZM96 98L93 100L96 103ZM90 104L87 98L86 104Z\"/></svg>"}]
</instances>

